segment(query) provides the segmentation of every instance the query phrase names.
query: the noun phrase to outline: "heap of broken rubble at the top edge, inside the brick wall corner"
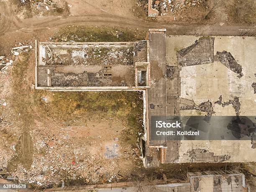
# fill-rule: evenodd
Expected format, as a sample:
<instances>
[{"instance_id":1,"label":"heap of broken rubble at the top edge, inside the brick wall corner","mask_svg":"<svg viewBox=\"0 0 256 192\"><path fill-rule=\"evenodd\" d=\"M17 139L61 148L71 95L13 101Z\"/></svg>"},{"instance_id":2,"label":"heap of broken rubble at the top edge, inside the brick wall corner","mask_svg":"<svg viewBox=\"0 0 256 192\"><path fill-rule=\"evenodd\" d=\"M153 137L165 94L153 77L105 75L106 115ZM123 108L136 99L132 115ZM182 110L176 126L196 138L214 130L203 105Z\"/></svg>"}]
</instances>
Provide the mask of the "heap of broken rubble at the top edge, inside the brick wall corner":
<instances>
[{"instance_id":1,"label":"heap of broken rubble at the top edge, inside the brick wall corner","mask_svg":"<svg viewBox=\"0 0 256 192\"><path fill-rule=\"evenodd\" d=\"M205 0L154 0L153 8L160 15L166 15L167 12L177 13L184 8L200 6L204 2Z\"/></svg>"}]
</instances>

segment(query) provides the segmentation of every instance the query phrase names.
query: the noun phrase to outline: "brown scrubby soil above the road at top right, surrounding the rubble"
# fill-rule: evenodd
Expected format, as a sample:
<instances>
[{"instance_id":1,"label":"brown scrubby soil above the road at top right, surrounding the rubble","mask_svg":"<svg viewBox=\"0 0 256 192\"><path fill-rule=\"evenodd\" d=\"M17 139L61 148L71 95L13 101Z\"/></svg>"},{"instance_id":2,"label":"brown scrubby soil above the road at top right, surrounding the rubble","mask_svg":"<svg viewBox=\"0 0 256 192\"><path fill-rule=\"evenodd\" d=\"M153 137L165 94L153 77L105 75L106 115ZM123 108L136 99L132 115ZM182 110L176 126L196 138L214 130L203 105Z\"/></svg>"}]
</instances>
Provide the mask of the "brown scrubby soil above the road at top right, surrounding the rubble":
<instances>
[{"instance_id":1,"label":"brown scrubby soil above the road at top right, surrounding the rubble","mask_svg":"<svg viewBox=\"0 0 256 192\"><path fill-rule=\"evenodd\" d=\"M160 0L164 2L164 0ZM165 1L168 2L168 1ZM156 18L147 18L147 0L138 0L136 15L147 20L163 23L202 23L202 24L255 24L256 2L254 0L205 0L195 6L190 0L172 1L167 11ZM190 4L188 4L190 2ZM171 5L176 5L173 8ZM178 5L178 6L177 6ZM188 6L190 5L190 6Z\"/></svg>"}]
</instances>

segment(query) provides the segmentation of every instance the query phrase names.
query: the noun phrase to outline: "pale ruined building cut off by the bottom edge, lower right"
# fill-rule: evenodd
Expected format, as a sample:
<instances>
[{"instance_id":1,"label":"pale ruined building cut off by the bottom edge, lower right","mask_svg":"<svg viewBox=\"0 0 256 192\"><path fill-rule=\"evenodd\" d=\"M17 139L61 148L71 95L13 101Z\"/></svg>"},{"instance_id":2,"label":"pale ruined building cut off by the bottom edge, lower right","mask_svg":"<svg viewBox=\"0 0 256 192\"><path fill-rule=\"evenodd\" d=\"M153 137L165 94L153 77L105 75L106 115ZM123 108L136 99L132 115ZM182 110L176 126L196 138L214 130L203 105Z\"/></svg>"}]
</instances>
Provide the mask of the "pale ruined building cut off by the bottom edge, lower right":
<instances>
[{"instance_id":1,"label":"pale ruined building cut off by the bottom edge, lower right","mask_svg":"<svg viewBox=\"0 0 256 192\"><path fill-rule=\"evenodd\" d=\"M250 192L250 187L245 183L245 175L239 172L208 171L208 172L188 172L187 182L157 184L154 186L142 185L142 191L154 192ZM136 192L132 182L102 184L97 192ZM93 186L88 189L95 189Z\"/></svg>"}]
</instances>

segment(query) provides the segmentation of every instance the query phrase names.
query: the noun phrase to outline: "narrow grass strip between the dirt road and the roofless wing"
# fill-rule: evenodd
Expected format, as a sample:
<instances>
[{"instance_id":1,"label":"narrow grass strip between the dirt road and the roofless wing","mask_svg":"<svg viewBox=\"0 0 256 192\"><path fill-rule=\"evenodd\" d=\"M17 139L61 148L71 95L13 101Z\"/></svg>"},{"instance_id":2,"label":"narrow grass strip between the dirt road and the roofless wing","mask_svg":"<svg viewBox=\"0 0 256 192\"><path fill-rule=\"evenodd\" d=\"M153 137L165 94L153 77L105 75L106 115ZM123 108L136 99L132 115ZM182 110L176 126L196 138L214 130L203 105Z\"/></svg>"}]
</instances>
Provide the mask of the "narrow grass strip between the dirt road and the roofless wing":
<instances>
[{"instance_id":1,"label":"narrow grass strip between the dirt road and the roofless wing","mask_svg":"<svg viewBox=\"0 0 256 192\"><path fill-rule=\"evenodd\" d=\"M130 28L65 26L54 34L54 41L139 41L144 40L146 31Z\"/></svg>"}]
</instances>

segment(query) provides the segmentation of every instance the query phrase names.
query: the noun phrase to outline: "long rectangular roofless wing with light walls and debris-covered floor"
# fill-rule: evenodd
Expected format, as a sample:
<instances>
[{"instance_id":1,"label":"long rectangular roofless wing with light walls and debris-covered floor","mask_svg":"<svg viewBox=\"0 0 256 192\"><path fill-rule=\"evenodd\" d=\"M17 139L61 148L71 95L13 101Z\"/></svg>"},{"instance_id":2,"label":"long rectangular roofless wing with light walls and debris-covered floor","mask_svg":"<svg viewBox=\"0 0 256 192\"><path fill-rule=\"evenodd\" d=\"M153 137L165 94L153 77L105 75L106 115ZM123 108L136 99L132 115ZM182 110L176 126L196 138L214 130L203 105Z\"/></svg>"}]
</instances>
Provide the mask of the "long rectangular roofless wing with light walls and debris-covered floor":
<instances>
[{"instance_id":1,"label":"long rectangular roofless wing with light walls and debris-covered floor","mask_svg":"<svg viewBox=\"0 0 256 192\"><path fill-rule=\"evenodd\" d=\"M147 41L39 42L36 48L37 89L143 90L150 85Z\"/></svg>"}]
</instances>

